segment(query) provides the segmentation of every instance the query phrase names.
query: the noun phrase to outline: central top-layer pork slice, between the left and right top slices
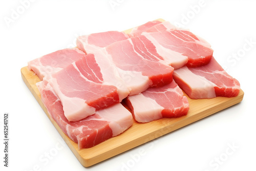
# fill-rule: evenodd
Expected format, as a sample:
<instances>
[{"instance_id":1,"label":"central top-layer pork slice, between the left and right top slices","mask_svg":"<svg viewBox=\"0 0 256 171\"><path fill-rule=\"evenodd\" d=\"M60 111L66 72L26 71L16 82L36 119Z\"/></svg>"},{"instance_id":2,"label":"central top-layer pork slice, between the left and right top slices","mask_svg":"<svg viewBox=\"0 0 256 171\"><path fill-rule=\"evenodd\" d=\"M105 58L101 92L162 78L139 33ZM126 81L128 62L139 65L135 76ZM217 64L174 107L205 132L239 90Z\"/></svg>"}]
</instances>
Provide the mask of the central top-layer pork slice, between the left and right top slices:
<instances>
[{"instance_id":1,"label":"central top-layer pork slice, between the left and right top slices","mask_svg":"<svg viewBox=\"0 0 256 171\"><path fill-rule=\"evenodd\" d=\"M145 36L115 42L105 47L105 53L131 89L130 95L149 87L164 86L173 80L173 67L162 62L155 46Z\"/></svg>"}]
</instances>

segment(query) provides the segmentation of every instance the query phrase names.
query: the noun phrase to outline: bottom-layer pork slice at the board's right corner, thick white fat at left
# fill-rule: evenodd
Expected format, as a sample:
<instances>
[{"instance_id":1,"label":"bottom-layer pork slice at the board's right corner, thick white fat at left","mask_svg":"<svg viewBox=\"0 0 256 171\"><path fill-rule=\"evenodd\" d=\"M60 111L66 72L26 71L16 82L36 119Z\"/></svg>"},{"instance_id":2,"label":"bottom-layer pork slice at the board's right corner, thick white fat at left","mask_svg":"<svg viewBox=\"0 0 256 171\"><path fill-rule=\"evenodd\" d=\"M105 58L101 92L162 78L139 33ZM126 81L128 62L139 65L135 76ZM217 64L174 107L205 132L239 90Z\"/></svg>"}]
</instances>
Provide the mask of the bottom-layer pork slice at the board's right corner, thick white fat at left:
<instances>
[{"instance_id":1,"label":"bottom-layer pork slice at the board's right corner, thick white fat at left","mask_svg":"<svg viewBox=\"0 0 256 171\"><path fill-rule=\"evenodd\" d=\"M206 66L174 71L174 80L192 99L234 97L239 94L240 83L223 70L214 57Z\"/></svg>"}]
</instances>

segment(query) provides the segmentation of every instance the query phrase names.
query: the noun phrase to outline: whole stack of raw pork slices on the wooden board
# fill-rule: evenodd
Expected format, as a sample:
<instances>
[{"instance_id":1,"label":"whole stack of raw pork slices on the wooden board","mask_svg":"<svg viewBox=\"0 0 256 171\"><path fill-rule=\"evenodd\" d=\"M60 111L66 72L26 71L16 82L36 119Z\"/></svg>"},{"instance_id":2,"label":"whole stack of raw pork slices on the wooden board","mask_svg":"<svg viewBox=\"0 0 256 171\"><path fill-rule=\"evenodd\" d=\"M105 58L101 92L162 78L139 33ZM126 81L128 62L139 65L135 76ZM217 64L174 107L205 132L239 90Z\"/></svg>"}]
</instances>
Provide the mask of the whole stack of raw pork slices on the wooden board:
<instances>
[{"instance_id":1,"label":"whole stack of raw pork slices on the wooden board","mask_svg":"<svg viewBox=\"0 0 256 171\"><path fill-rule=\"evenodd\" d=\"M186 115L182 90L196 99L237 96L239 82L212 54L204 39L157 20L129 34L79 36L77 48L42 56L28 67L41 79L37 87L49 115L80 149L121 134L134 120Z\"/></svg>"}]
</instances>

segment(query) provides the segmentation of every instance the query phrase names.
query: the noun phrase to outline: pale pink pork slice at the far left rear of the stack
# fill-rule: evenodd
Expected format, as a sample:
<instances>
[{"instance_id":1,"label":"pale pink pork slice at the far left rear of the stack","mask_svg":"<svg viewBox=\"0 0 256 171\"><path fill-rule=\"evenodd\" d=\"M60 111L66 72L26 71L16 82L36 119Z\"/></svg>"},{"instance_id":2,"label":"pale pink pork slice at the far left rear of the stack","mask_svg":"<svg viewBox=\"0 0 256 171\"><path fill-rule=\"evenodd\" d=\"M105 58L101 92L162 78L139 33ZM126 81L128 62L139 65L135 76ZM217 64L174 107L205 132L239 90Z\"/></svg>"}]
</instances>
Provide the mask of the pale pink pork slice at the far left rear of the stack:
<instances>
[{"instance_id":1,"label":"pale pink pork slice at the far left rear of the stack","mask_svg":"<svg viewBox=\"0 0 256 171\"><path fill-rule=\"evenodd\" d=\"M85 53L77 48L62 49L29 61L28 68L33 70L40 80L42 80L45 76L60 71L84 55Z\"/></svg>"}]
</instances>

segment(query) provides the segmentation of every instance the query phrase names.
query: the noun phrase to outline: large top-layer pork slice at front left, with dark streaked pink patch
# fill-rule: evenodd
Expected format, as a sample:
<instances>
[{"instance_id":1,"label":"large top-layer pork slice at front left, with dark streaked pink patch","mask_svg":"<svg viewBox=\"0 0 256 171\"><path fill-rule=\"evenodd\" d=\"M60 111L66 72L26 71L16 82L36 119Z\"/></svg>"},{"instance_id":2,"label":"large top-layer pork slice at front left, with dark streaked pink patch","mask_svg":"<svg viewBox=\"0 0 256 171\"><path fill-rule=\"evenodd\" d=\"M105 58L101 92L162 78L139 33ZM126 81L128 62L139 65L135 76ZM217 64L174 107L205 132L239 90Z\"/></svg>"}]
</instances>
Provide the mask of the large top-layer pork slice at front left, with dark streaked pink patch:
<instances>
[{"instance_id":1,"label":"large top-layer pork slice at front left, with dark streaked pink patch","mask_svg":"<svg viewBox=\"0 0 256 171\"><path fill-rule=\"evenodd\" d=\"M87 54L47 80L63 105L69 121L77 121L114 103L130 91L108 61ZM99 62L98 62L99 61Z\"/></svg>"}]
</instances>

